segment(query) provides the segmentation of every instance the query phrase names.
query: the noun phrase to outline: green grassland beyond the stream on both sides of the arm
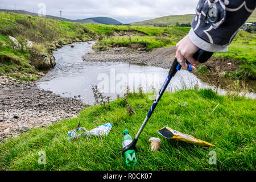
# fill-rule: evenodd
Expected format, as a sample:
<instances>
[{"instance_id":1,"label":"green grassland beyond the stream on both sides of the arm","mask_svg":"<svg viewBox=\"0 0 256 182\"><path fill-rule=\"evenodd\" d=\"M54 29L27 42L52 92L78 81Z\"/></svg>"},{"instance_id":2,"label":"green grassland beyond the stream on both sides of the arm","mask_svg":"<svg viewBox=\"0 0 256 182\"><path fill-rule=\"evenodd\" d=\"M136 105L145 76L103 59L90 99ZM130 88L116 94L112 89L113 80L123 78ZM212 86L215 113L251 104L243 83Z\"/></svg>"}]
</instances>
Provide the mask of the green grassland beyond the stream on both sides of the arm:
<instances>
[{"instance_id":1,"label":"green grassland beyond the stream on both sides of the arm","mask_svg":"<svg viewBox=\"0 0 256 182\"><path fill-rule=\"evenodd\" d=\"M36 80L39 77L36 75L38 70L29 64L28 50L14 49L8 35L14 36L20 44L26 43L26 40L33 41L35 46L32 49L42 52L51 52L52 42L56 40L61 40L63 44L97 40L94 48L100 51L115 46L131 46L131 44L141 44L151 50L175 46L188 31L189 27L107 26L1 12L0 75L11 73L11 76L24 81ZM114 36L119 32L123 35ZM254 34L240 31L229 46L228 52L214 54L217 57L237 59L241 62L240 68L226 73L225 76L255 80L255 41Z\"/></svg>"}]
</instances>

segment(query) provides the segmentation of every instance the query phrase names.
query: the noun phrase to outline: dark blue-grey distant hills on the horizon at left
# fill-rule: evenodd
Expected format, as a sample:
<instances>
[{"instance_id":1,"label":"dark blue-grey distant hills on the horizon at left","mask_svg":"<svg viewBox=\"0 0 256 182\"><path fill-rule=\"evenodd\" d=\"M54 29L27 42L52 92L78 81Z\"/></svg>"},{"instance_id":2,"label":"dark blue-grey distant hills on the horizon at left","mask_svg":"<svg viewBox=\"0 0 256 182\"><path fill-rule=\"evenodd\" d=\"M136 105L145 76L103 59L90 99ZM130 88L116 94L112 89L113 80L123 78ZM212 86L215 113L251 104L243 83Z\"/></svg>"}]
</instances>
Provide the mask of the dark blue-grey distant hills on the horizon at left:
<instances>
[{"instance_id":1,"label":"dark blue-grey distant hills on the horizon at left","mask_svg":"<svg viewBox=\"0 0 256 182\"><path fill-rule=\"evenodd\" d=\"M6 12L18 13L18 14L30 15L30 16L38 16L37 13L31 13L24 10L0 10L0 11L6 11ZM108 18L108 17L94 17L94 18L72 20L67 18L60 18L58 16L46 15L46 18L59 19L59 20L64 20L66 22L76 22L76 23L122 24L121 22L118 22L118 20L115 20L113 18Z\"/></svg>"}]
</instances>

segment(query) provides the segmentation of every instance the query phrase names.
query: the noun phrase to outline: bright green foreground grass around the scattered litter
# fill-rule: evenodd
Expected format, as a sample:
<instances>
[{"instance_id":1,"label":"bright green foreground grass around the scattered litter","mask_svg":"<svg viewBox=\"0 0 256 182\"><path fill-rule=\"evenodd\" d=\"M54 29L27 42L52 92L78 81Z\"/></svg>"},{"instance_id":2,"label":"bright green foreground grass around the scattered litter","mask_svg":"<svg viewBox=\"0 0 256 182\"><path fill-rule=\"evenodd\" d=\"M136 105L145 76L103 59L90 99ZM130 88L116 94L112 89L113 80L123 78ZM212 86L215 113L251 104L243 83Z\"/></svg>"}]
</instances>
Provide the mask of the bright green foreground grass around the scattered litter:
<instances>
[{"instance_id":1,"label":"bright green foreground grass around the scattered litter","mask_svg":"<svg viewBox=\"0 0 256 182\"><path fill-rule=\"evenodd\" d=\"M147 123L137 147L138 163L127 168L122 158L122 132L134 137L152 100L131 94L127 101L135 114L127 114L122 98L110 106L92 106L77 118L34 129L0 144L2 170L255 170L255 100L217 96L212 90L165 93ZM140 108L135 102L143 108ZM184 103L187 105L184 106ZM214 108L220 104L216 110ZM213 111L214 110L214 111ZM212 112L213 111L213 112ZM67 131L78 122L90 130L113 123L107 137L68 139ZM205 148L160 137L156 130L168 126L214 144ZM162 147L151 152L148 139L159 137ZM209 152L217 153L210 165ZM38 152L46 152L46 164L38 164Z\"/></svg>"}]
</instances>

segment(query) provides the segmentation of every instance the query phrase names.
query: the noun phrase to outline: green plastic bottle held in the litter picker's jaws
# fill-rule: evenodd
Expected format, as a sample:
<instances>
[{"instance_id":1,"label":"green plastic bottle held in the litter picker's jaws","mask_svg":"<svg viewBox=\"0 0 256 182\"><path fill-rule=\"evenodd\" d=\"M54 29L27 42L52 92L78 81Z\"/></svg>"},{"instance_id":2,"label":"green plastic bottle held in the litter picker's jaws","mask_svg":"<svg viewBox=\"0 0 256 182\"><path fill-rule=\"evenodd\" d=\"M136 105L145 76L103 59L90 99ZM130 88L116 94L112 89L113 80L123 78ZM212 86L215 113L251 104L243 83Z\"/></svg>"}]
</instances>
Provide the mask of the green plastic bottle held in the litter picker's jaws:
<instances>
[{"instance_id":1,"label":"green plastic bottle held in the litter picker's jaws","mask_svg":"<svg viewBox=\"0 0 256 182\"><path fill-rule=\"evenodd\" d=\"M129 135L128 130L123 130L123 147L129 145L133 141L133 138ZM137 163L136 152L134 150L127 150L125 152L125 163L127 166L135 166Z\"/></svg>"}]
</instances>

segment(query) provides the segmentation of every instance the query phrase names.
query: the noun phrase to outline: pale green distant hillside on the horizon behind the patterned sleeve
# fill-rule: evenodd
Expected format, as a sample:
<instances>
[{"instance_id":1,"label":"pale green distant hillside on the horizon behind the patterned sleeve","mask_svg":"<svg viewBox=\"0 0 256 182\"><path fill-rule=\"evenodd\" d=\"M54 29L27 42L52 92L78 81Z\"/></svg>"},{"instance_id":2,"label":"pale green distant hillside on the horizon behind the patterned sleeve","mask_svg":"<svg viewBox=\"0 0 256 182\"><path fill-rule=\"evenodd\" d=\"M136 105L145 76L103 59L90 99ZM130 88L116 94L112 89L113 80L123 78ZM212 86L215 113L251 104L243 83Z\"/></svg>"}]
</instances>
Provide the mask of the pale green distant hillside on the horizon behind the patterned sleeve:
<instances>
[{"instance_id":1,"label":"pale green distant hillside on the horizon behind the patterned sleeve","mask_svg":"<svg viewBox=\"0 0 256 182\"><path fill-rule=\"evenodd\" d=\"M176 22L179 24L181 23L191 23L192 19L195 15L194 14L188 14L188 15L171 15L171 16L163 16L160 18L150 19L150 20L144 20L142 22L134 22L130 23L134 26L154 26L159 24L164 25L175 25ZM253 11L253 14L247 19L246 22L256 22L256 11Z\"/></svg>"}]
</instances>

